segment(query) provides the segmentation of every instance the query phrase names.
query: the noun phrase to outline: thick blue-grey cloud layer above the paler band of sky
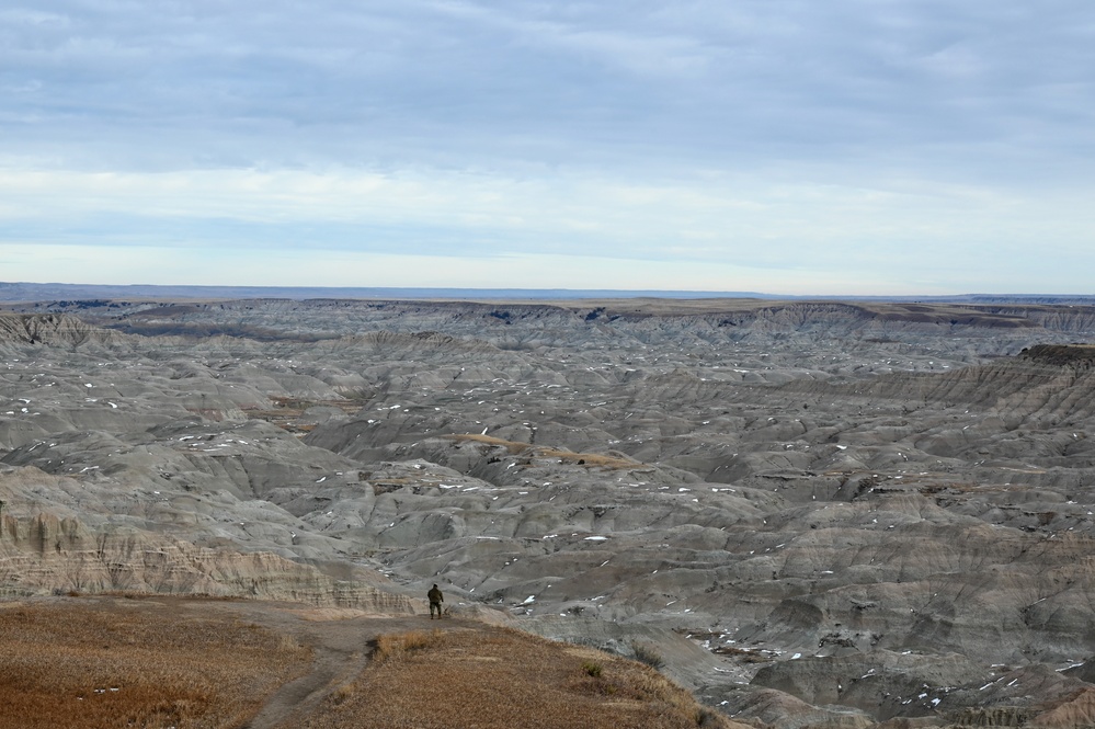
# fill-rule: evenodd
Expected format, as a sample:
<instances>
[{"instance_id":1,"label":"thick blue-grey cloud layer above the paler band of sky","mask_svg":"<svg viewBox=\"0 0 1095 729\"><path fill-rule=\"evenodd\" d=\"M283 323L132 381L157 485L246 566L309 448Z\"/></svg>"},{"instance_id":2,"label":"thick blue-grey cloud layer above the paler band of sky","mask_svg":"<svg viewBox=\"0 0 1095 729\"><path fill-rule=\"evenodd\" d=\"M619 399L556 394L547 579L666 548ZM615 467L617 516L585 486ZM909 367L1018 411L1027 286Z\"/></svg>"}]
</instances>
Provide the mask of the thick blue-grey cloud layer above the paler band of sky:
<instances>
[{"instance_id":1,"label":"thick blue-grey cloud layer above the paler band of sky","mask_svg":"<svg viewBox=\"0 0 1095 729\"><path fill-rule=\"evenodd\" d=\"M894 163L1014 140L1095 39L1082 3L1059 25L983 2L58 4L10 13L8 76L42 84L14 106L130 167ZM90 140L59 134L77 119Z\"/></svg>"}]
</instances>

